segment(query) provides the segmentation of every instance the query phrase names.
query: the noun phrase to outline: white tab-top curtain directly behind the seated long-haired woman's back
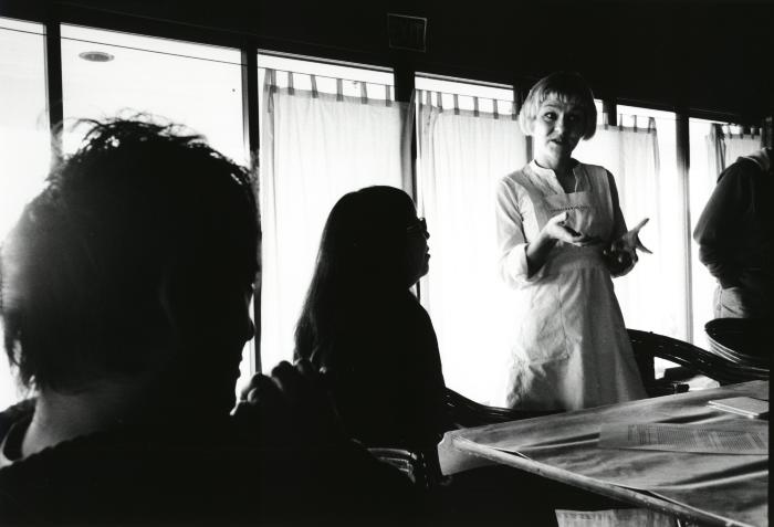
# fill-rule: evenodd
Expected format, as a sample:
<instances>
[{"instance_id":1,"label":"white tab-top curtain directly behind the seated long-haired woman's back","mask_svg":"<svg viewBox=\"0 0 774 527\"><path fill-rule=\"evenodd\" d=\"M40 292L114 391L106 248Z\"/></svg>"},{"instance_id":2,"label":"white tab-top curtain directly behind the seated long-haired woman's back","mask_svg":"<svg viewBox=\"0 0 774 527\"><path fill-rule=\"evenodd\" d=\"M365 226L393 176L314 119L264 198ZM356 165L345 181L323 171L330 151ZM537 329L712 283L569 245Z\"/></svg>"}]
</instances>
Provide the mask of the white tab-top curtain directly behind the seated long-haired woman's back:
<instances>
[{"instance_id":1,"label":"white tab-top curtain directly behind the seated long-haired woman's back","mask_svg":"<svg viewBox=\"0 0 774 527\"><path fill-rule=\"evenodd\" d=\"M268 71L261 109L261 362L293 356L322 229L346 192L405 187L407 106L292 87ZM315 85L313 80L312 85ZM410 143L409 143L410 145Z\"/></svg>"}]
</instances>

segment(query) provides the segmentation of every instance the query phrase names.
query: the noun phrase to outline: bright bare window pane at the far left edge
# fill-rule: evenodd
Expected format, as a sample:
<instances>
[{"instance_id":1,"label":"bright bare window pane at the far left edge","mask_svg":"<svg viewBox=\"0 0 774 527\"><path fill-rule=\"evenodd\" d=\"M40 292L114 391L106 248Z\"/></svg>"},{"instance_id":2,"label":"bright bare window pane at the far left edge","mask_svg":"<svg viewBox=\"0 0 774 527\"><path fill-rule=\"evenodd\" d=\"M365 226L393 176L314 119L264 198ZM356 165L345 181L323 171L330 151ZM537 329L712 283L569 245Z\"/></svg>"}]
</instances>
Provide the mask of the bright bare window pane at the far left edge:
<instances>
[{"instance_id":1,"label":"bright bare window pane at the far left edge","mask_svg":"<svg viewBox=\"0 0 774 527\"><path fill-rule=\"evenodd\" d=\"M42 188L51 159L49 137L43 25L0 18L0 240ZM21 393L4 347L0 355L0 407L6 408Z\"/></svg>"}]
</instances>

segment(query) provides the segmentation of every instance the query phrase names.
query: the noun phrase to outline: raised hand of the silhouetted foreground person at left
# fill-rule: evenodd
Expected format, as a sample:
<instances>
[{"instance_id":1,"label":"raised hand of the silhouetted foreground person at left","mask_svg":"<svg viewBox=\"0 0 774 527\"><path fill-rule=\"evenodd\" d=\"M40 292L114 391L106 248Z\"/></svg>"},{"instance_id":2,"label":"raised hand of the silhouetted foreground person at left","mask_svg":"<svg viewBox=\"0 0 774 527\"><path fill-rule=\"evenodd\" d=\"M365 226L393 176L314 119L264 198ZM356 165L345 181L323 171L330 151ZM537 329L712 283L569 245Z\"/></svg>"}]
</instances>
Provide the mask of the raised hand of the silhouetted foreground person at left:
<instances>
[{"instance_id":1,"label":"raised hand of the silhouetted foreground person at left","mask_svg":"<svg viewBox=\"0 0 774 527\"><path fill-rule=\"evenodd\" d=\"M323 445L344 439L323 376L308 360L280 362L271 376L257 373L241 391L234 419L258 431L262 445Z\"/></svg>"}]
</instances>

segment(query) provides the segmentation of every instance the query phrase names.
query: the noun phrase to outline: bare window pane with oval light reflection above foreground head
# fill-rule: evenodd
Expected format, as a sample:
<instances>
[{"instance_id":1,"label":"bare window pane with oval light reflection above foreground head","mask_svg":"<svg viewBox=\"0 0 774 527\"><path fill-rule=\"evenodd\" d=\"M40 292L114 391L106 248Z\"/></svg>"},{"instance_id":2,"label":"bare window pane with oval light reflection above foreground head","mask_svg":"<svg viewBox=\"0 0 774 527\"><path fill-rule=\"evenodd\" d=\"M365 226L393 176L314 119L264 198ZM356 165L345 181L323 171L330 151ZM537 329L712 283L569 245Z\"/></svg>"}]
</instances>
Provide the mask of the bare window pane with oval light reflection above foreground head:
<instances>
[{"instance_id":1,"label":"bare window pane with oval light reflection above foreground head","mask_svg":"<svg viewBox=\"0 0 774 527\"><path fill-rule=\"evenodd\" d=\"M62 25L65 131L73 119L150 113L247 162L239 50ZM65 152L81 139L65 134Z\"/></svg>"}]
</instances>

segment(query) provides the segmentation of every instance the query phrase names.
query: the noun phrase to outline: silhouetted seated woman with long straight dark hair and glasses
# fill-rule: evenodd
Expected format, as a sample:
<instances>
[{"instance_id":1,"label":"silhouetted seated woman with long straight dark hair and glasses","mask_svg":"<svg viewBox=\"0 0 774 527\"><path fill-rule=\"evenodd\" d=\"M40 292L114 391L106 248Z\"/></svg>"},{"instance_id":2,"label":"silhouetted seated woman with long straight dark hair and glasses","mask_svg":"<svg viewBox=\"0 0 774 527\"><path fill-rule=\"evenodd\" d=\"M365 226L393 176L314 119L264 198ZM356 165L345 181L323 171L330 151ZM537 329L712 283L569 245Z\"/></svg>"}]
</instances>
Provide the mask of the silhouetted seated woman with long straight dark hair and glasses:
<instances>
[{"instance_id":1,"label":"silhouetted seated woman with long straight dark hair and glasses","mask_svg":"<svg viewBox=\"0 0 774 527\"><path fill-rule=\"evenodd\" d=\"M421 452L432 465L451 426L436 333L409 292L428 272L429 238L401 190L368 187L339 199L323 231L295 355L327 370L353 438Z\"/></svg>"}]
</instances>

